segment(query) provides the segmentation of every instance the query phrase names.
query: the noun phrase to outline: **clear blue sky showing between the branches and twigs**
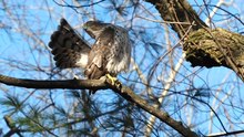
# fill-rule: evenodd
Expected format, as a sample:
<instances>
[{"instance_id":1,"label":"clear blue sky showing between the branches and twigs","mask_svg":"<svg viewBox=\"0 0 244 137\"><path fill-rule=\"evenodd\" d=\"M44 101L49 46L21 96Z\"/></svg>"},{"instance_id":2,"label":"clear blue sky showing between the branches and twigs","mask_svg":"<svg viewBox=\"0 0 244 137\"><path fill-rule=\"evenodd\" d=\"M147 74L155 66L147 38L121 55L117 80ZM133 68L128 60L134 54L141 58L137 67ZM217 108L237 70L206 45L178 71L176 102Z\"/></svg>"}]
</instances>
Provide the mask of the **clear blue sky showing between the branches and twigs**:
<instances>
[{"instance_id":1,"label":"clear blue sky showing between the branches and twigs","mask_svg":"<svg viewBox=\"0 0 244 137\"><path fill-rule=\"evenodd\" d=\"M218 0L213 0L211 1L212 4L216 4ZM224 9L226 9L227 11L232 12L233 14L236 14L237 17L241 15L241 13L243 13L243 9L244 6L243 4L237 4L241 3L242 0L235 0L234 3L232 4L233 7L225 7L223 6ZM65 8L65 7L60 7L57 6L53 1L27 1L27 0L20 0L20 1L14 1L14 0L10 0L8 1L8 3L12 3L12 6L16 7L14 10L12 10L12 12L14 14L20 14L20 19L16 19L14 15L11 17L9 14L6 14L6 12L3 12L3 10L0 10L0 18L2 19L0 21L4 22L7 24L7 29L6 30L0 30L0 72L1 74L8 75L8 76L13 76L13 77L21 77L21 78L34 78L34 80L57 80L57 77L59 76L50 76L50 73L52 71L57 71L54 68L54 66L50 67L50 63L53 65L53 61L50 60L52 56L50 54L50 49L47 46L48 42L50 41L50 35L51 33L57 29L58 24L59 24L59 20L61 18L65 18L71 24L72 27L74 27L82 35L84 35L84 38L87 40L89 40L89 42L93 42L93 40L91 40L91 38L88 36L88 34L84 33L84 31L81 29L81 24L84 23L85 21L94 18L91 14L84 14L87 13L89 8L83 8L81 11L83 13L77 13L75 10L70 9L70 8ZM191 0L190 3L195 4L195 1ZM203 4L201 2L199 2L199 4ZM28 6L28 7L22 7L22 6ZM0 4L1 7L1 4ZM116 23L119 25L124 25L125 28L130 28L130 23L126 23L126 20L123 20L122 17L120 15L113 15L110 17L110 14L112 14L113 12L109 12L109 9L106 8L106 4L98 4L95 6L95 10L92 12L95 12L95 18L104 21L104 22L112 22L112 23ZM19 9L20 8L20 9ZM27 8L26 10L22 10L22 8ZM48 9L49 8L49 9ZM153 13L155 12L155 9L151 6L151 4L144 4L145 9L150 9ZM199 9L197 7L194 7L194 9L197 12L201 12L201 9ZM203 9L204 10L204 9ZM129 11L131 12L131 11ZM145 18L148 18L148 14L145 13L145 11L141 11L144 14L141 14L142 17L144 15ZM234 22L233 20L230 20L230 25L226 25L226 23L223 23L221 20L223 20L224 18L226 18L225 15L226 12L218 10L217 14L215 14L213 17L213 21L215 22L216 27L221 27L234 32L242 32L243 30L243 24L241 24L240 22ZM21 15L26 15L26 21L23 21L23 24L18 24L14 21L9 21L9 18L12 18L13 20L21 20ZM8 17L8 18L7 18ZM160 20L160 15L159 13L154 14L155 18L153 18L153 20ZM150 17L151 18L151 17ZM206 15L204 15L204 13L201 14L201 19L205 20ZM242 17L243 19L243 17ZM165 42L159 38L154 38L153 34L157 33L157 35L163 35L164 31L156 31L155 28L157 28L157 25L155 23L150 23L149 21L143 21L141 20L141 18L135 18L134 23L136 23L136 25L143 25L146 28L151 28L152 31L149 29L146 31L148 34L148 39L146 41L152 42L152 41L156 41L156 43L163 44L165 45ZM236 25L238 28L236 28ZM28 28L29 30L22 30L23 28ZM39 41L39 39L35 40L35 35L31 33L31 31L37 31L39 32L39 35L41 39L41 41ZM22 35L21 33L24 33L26 35ZM132 34L133 32L130 32L130 34ZM132 36L133 39L133 36ZM176 44L176 38L172 36L172 44ZM140 63L142 62L143 57L142 55L144 55L148 57L148 60L142 62L142 66L141 68L144 70L145 73L149 73L149 70L146 70L146 67L150 66L150 63L152 62L152 60L154 60L151 55L148 54L148 51L144 49L144 46L142 45L142 41L134 41L134 44L136 44L136 46L134 46L134 51L140 51L140 52L135 52L133 54L133 57L136 56L135 62ZM48 49L48 50L47 50ZM161 51L162 52L162 51ZM160 54L163 54L163 52ZM182 51L181 49L176 51L177 53L175 53L175 56L181 56ZM156 54L155 52L152 54ZM11 65L6 65L7 63L12 62L13 66ZM175 60L176 62L176 60ZM238 85L238 84L233 84L234 82L240 82L241 80L238 80L235 75L235 73L228 68L225 67L213 67L213 68L205 68L205 67L191 67L191 64L189 62L183 63L183 67L180 68L180 71L182 72L182 74L185 75L191 75L192 72L197 72L197 75L193 75L192 80L193 80L193 84L195 87L200 87L200 86L210 86L213 87L217 91L217 88L220 88L220 84L223 83L223 86L221 88L223 88L224 91L228 92L232 91L233 96L236 96L236 94L238 93L240 96L243 96L243 94L240 92L243 88L243 85ZM39 70L34 70L37 66ZM24 68L23 66L28 66L27 70L20 70ZM162 65L163 66L163 65ZM31 70L33 68L33 70ZM63 71L63 74L67 74L67 78L72 77L73 75L71 73L68 73L69 71ZM77 73L77 71L75 71ZM133 72L132 72L133 73ZM79 74L79 70L78 70L78 74ZM128 76L130 74L122 74L119 76L119 78L121 81L124 81L123 77ZM165 74L166 75L166 74ZM64 78L64 77L63 77ZM177 75L179 80L184 80L184 75ZM225 81L226 80L226 81ZM133 83L130 82L128 83L129 85ZM155 81L156 83L156 81ZM156 83L159 84L159 83ZM4 85L0 85L4 88L11 88L12 93L18 93L18 95L21 95L23 93L24 89L22 88L17 88L17 87L9 87L9 86L4 86ZM138 84L136 87L141 88L142 85ZM186 85L181 84L177 86L179 89L185 89ZM212 91L211 94L216 95L216 92ZM48 94L47 94L48 95ZM2 94L0 92L0 97L3 97L4 94ZM225 97L225 94L220 94L220 96L223 96L223 98ZM60 98L62 98L63 96L60 96ZM221 98L221 97L220 97ZM214 104L215 101L214 98L211 98L210 104ZM200 109L205 109L206 107L200 107ZM4 115L6 109L0 109L0 123L2 125L2 128L4 129L3 131L6 133L8 130L8 128L6 128L4 122L1 120L2 116ZM220 112L222 112L223 109L220 109ZM236 112L233 112L236 113ZM232 114L232 112L231 112ZM197 114L201 115L201 114ZM206 118L205 115L203 116L204 119ZM222 118L224 117L221 116ZM224 122L226 119L224 118ZM243 118L241 120L244 120ZM218 131L218 123L215 123L215 127L213 127L213 131ZM209 126L209 123L205 123L205 126Z\"/></svg>"}]
</instances>

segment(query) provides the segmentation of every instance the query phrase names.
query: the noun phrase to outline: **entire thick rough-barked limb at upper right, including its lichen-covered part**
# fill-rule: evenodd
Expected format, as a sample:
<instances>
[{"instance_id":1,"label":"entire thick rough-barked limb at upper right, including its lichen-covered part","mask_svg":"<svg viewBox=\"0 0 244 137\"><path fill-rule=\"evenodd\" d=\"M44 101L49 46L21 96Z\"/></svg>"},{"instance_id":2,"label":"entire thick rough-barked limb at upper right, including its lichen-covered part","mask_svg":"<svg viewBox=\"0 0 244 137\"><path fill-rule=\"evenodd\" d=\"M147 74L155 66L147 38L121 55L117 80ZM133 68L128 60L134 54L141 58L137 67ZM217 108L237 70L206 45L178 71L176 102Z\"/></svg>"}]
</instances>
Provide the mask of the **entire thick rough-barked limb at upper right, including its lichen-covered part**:
<instances>
[{"instance_id":1,"label":"entire thick rough-barked limb at upper right, including its lichen-covered part","mask_svg":"<svg viewBox=\"0 0 244 137\"><path fill-rule=\"evenodd\" d=\"M186 0L146 0L170 21L192 66L225 66L244 81L244 36L223 29L210 30ZM179 22L179 23L176 23ZM187 23L187 24L185 24Z\"/></svg>"}]
</instances>

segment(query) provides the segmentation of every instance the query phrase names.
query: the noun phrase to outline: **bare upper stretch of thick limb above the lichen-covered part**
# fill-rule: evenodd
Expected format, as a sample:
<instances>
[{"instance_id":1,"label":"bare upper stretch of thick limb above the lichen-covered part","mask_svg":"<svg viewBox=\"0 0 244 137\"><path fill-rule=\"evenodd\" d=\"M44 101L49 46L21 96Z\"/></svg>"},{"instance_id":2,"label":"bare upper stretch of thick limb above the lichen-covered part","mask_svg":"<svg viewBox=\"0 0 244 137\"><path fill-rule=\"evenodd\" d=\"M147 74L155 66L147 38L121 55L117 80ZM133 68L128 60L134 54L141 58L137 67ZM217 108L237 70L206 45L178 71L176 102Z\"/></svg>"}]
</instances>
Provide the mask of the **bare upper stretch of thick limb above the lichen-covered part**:
<instances>
[{"instance_id":1,"label":"bare upper stretch of thick limb above the lichen-covered part","mask_svg":"<svg viewBox=\"0 0 244 137\"><path fill-rule=\"evenodd\" d=\"M155 6L162 19L171 23L172 29L180 38L186 32L196 31L207 25L199 18L186 0L146 0ZM184 22L184 24L180 23ZM191 28L191 29L190 29Z\"/></svg>"}]
</instances>

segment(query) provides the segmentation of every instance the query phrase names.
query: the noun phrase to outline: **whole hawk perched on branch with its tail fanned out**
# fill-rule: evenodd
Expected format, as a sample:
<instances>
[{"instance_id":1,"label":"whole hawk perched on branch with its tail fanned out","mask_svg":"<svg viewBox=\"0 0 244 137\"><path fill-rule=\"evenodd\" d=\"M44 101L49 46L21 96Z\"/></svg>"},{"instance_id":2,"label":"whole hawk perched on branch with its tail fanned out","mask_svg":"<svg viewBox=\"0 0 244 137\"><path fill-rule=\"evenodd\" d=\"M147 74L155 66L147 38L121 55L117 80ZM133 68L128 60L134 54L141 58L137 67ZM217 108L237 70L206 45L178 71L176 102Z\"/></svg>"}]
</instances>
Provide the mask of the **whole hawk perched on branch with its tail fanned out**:
<instances>
[{"instance_id":1,"label":"whole hawk perched on branch with its tail fanned out","mask_svg":"<svg viewBox=\"0 0 244 137\"><path fill-rule=\"evenodd\" d=\"M61 19L49 43L58 67L81 67L89 80L98 80L106 74L116 76L128 70L131 42L125 29L100 21L88 21L83 29L95 39L92 46L65 19Z\"/></svg>"}]
</instances>

